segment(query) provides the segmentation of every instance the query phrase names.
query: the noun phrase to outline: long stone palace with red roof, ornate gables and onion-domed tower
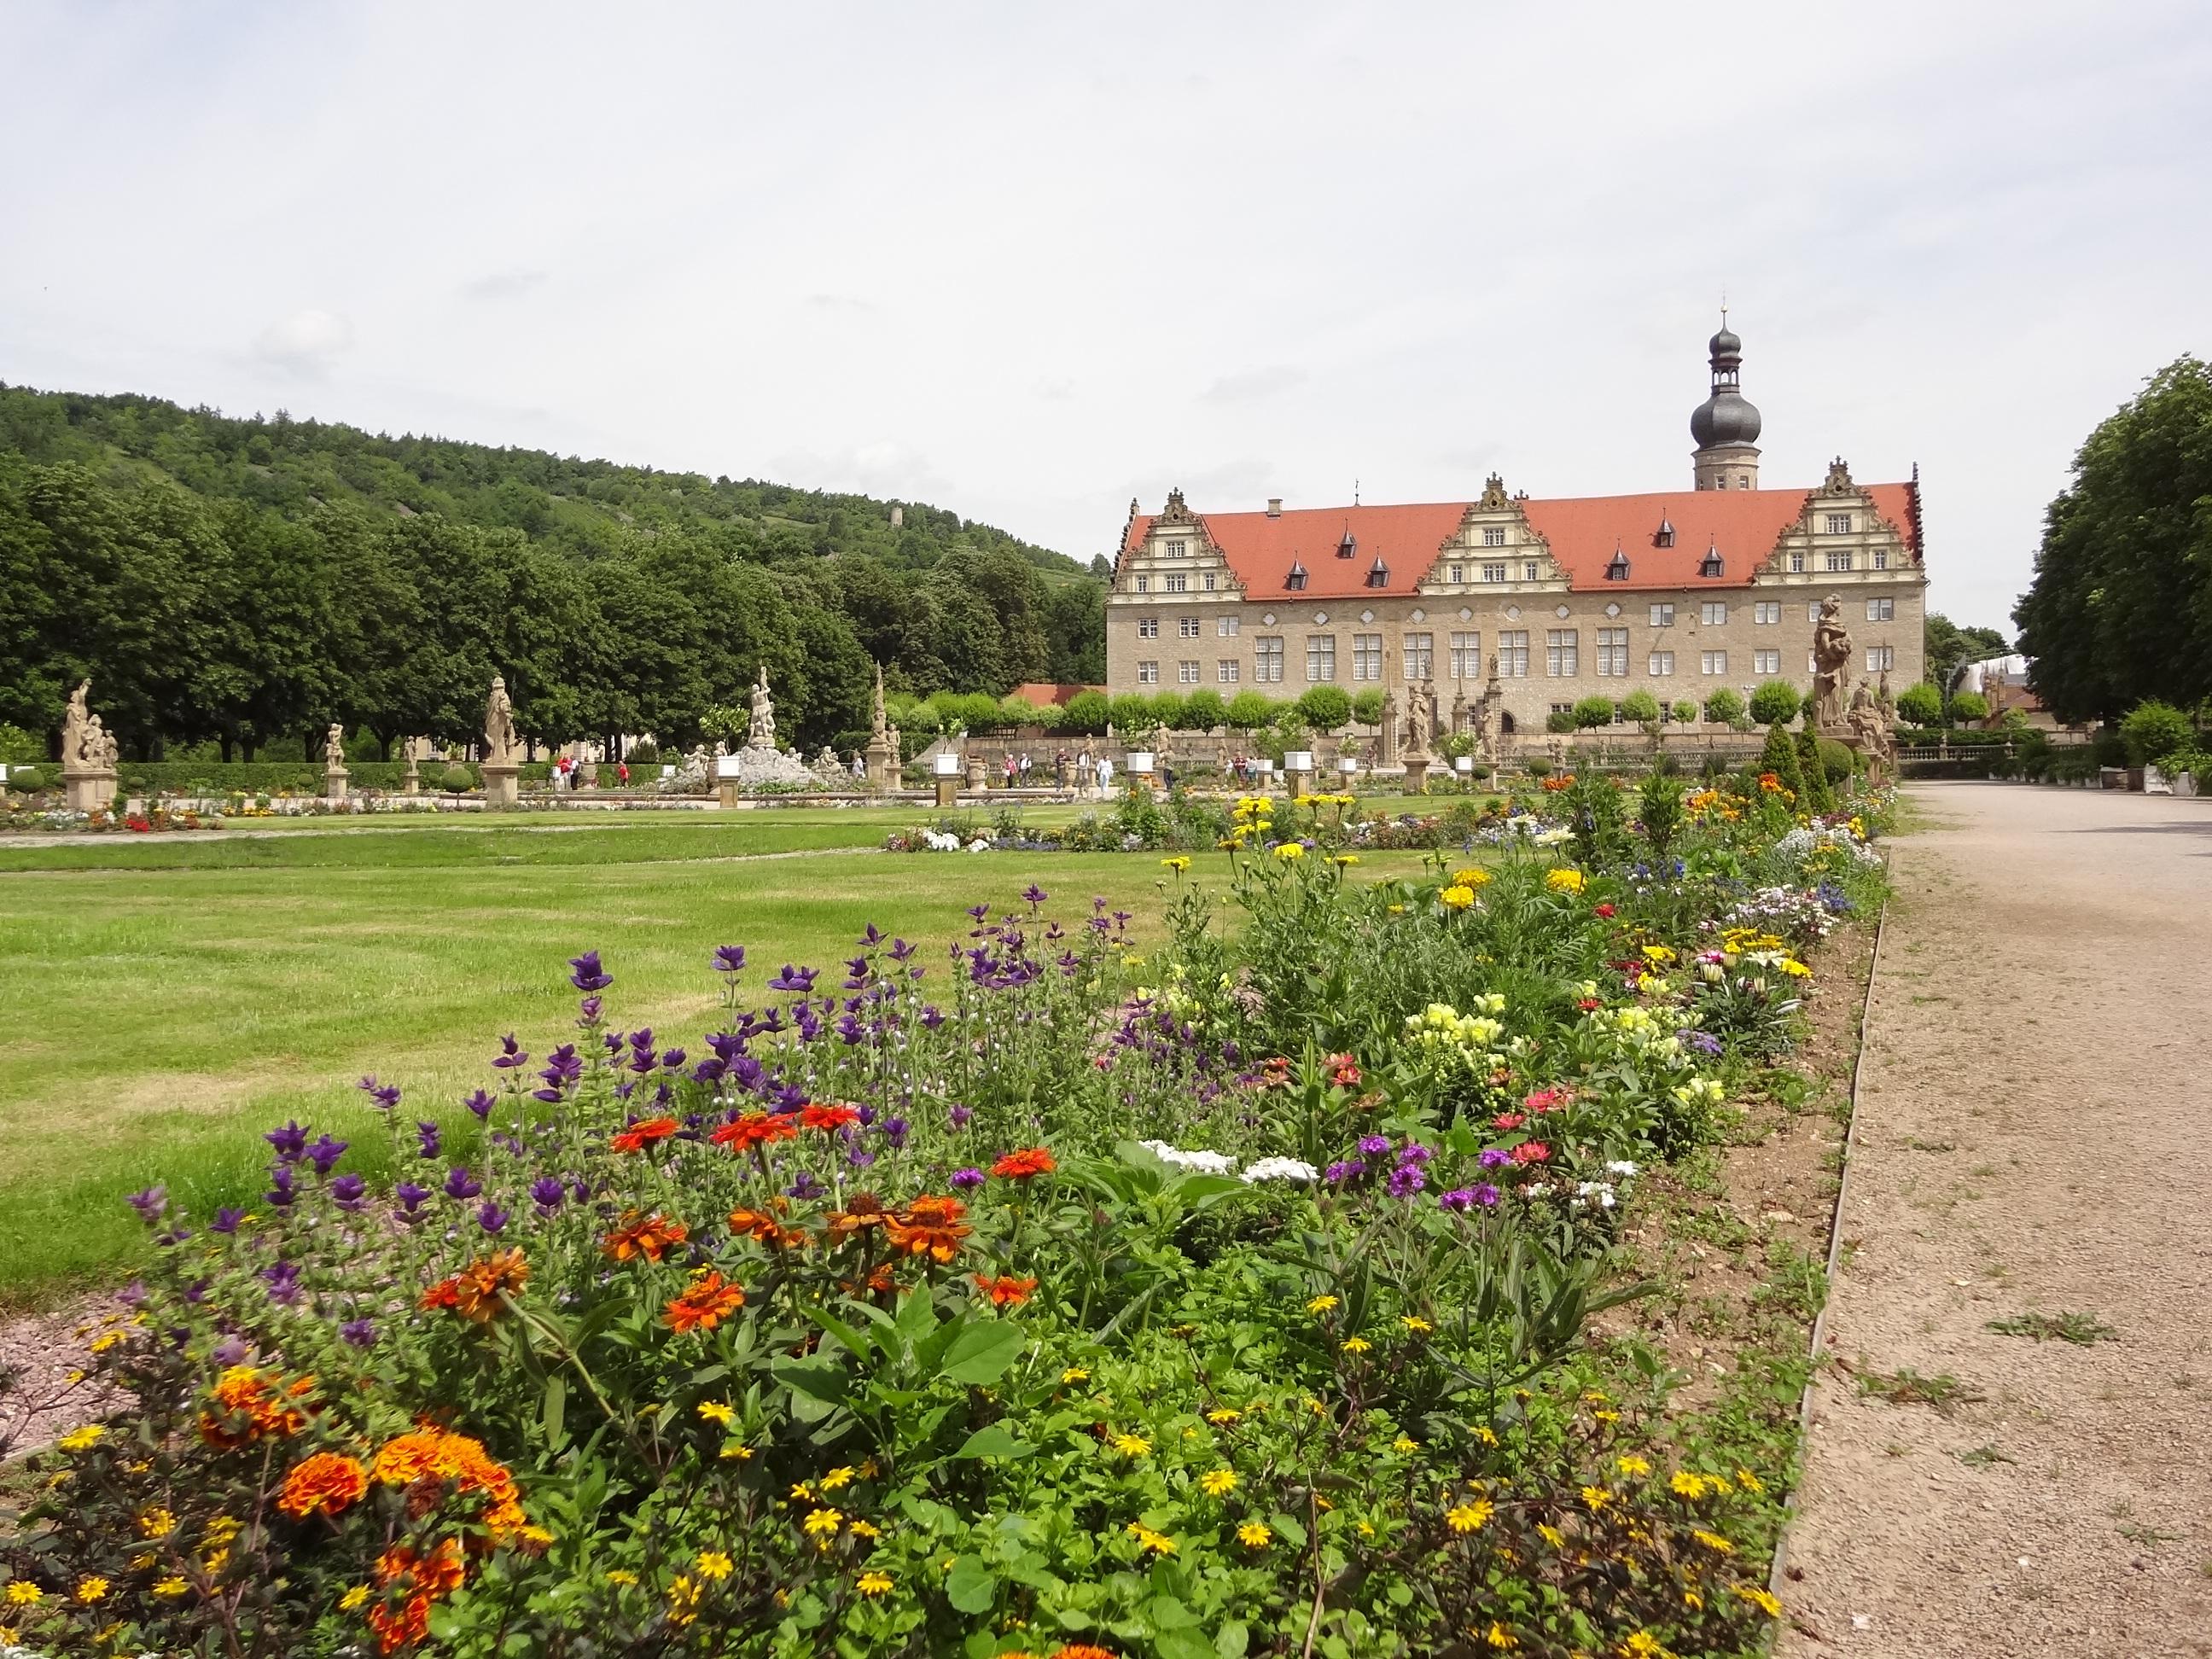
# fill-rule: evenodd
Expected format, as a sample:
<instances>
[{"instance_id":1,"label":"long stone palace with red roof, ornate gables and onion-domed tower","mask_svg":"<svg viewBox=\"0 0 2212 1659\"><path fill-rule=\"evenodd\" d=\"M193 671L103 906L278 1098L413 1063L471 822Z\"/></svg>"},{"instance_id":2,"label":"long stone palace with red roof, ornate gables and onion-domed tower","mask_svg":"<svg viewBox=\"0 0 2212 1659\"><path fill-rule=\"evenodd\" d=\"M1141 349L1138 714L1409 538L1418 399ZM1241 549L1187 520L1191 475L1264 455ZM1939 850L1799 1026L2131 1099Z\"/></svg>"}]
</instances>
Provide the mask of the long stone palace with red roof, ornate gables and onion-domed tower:
<instances>
[{"instance_id":1,"label":"long stone palace with red roof, ornate gables and onion-domed tower","mask_svg":"<svg viewBox=\"0 0 2212 1659\"><path fill-rule=\"evenodd\" d=\"M1495 675L1504 730L1540 732L1593 695L1661 708L1765 679L1812 684L1812 628L1840 595L1854 677L1920 679L1927 571L1920 473L1860 484L1836 460L1812 489L1761 489L1743 341L1712 336L1690 416L1692 489L1413 507L1159 513L1130 502L1106 597L1113 692L1427 686L1447 710Z\"/></svg>"}]
</instances>

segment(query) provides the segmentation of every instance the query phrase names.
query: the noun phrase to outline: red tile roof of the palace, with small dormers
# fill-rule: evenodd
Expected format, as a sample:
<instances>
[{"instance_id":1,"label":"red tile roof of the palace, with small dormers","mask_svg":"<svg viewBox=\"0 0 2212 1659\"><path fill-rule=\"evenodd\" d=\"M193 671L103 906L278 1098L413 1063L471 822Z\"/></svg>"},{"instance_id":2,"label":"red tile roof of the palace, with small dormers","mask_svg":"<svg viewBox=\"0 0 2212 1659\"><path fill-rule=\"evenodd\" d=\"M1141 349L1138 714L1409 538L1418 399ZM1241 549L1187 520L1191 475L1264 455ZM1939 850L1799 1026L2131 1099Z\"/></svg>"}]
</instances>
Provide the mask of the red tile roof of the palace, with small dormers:
<instances>
[{"instance_id":1,"label":"red tile roof of the palace, with small dormers","mask_svg":"<svg viewBox=\"0 0 2212 1659\"><path fill-rule=\"evenodd\" d=\"M1863 484L1876 511L1920 557L1918 484ZM1528 526L1551 544L1573 588L1694 588L1745 586L1774 553L1774 544L1798 522L1809 491L1803 489L1681 489L1655 495L1579 495L1566 500L1522 500ZM1360 593L1411 593L1436 564L1467 513L1467 502L1416 507L1305 507L1270 513L1201 513L1206 533L1228 557L1237 580L1254 599L1287 593L1290 566L1305 566L1303 593L1352 597ZM1674 526L1674 546L1655 546L1659 524ZM1121 551L1137 549L1152 518L1130 520ZM1356 538L1349 560L1336 555L1345 531ZM1619 546L1628 555L1628 580L1606 582L1606 566ZM1708 549L1719 549L1719 577L1697 571ZM1511 553L1511 549L1509 549ZM1469 557L1482 557L1473 549ZM1389 586L1369 588L1376 557L1389 566ZM1491 553L1489 557L1498 557Z\"/></svg>"}]
</instances>

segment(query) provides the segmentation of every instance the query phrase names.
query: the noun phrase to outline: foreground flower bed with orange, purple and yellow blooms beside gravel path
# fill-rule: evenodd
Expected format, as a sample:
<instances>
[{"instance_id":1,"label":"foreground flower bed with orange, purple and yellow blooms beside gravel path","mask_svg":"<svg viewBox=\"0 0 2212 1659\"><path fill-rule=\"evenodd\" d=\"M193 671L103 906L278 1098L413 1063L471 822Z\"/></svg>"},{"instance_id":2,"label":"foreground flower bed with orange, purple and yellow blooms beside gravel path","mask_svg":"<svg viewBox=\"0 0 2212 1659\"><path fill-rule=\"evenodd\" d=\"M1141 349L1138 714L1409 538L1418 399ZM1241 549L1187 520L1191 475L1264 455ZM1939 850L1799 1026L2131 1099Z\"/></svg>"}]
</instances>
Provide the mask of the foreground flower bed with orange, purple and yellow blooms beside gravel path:
<instances>
[{"instance_id":1,"label":"foreground flower bed with orange, purple and yellow blooms beside gravel path","mask_svg":"<svg viewBox=\"0 0 2212 1659\"><path fill-rule=\"evenodd\" d=\"M1878 816L1783 854L1772 796L1557 801L1557 845L1380 885L1237 803L1157 951L1037 887L843 973L723 947L703 1040L584 953L465 1133L363 1079L389 1192L285 1124L248 1212L137 1194L86 1360L126 1409L46 1453L7 1639L1756 1650L1787 1462L1590 1321L1878 898Z\"/></svg>"}]
</instances>

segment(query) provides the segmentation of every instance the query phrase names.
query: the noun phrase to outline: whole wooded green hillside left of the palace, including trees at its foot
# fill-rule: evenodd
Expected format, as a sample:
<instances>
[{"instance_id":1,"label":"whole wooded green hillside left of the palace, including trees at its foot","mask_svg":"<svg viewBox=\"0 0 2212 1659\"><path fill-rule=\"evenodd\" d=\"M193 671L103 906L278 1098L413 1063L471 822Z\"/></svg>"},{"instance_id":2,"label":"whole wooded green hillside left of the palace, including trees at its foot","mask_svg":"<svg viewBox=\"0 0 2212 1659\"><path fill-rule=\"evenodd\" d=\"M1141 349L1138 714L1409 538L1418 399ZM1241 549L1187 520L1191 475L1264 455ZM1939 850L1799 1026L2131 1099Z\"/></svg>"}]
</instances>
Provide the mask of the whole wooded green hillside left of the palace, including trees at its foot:
<instances>
[{"instance_id":1,"label":"whole wooded green hillside left of the palace, including trees at its foot","mask_svg":"<svg viewBox=\"0 0 2212 1659\"><path fill-rule=\"evenodd\" d=\"M75 679L148 754L341 719L690 741L754 661L807 743L894 690L1104 679L1104 588L958 513L0 385L0 721Z\"/></svg>"}]
</instances>

